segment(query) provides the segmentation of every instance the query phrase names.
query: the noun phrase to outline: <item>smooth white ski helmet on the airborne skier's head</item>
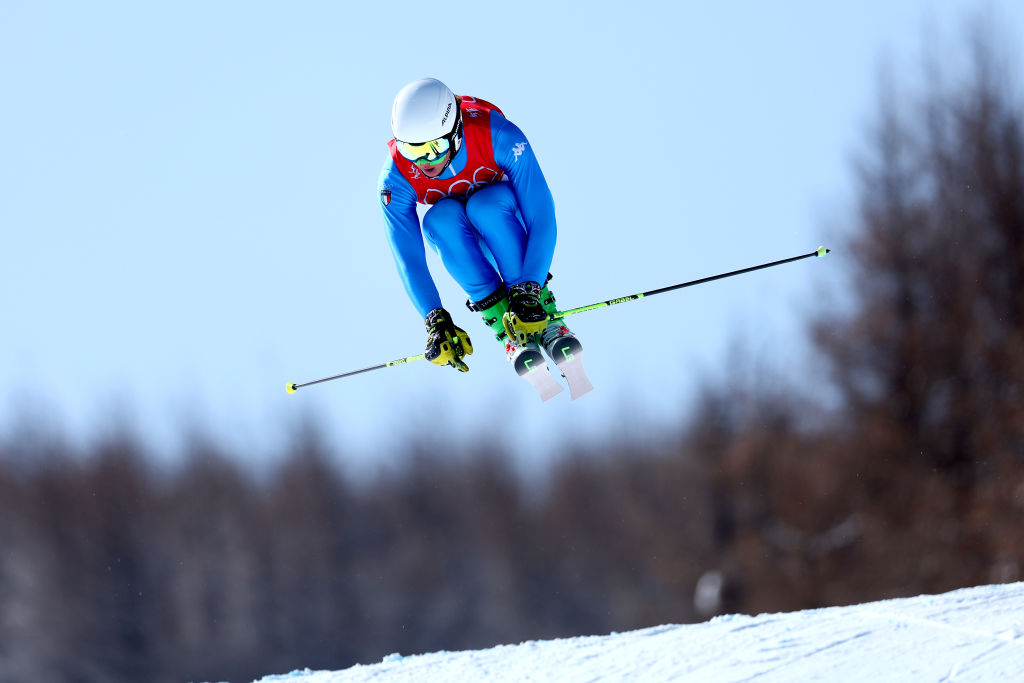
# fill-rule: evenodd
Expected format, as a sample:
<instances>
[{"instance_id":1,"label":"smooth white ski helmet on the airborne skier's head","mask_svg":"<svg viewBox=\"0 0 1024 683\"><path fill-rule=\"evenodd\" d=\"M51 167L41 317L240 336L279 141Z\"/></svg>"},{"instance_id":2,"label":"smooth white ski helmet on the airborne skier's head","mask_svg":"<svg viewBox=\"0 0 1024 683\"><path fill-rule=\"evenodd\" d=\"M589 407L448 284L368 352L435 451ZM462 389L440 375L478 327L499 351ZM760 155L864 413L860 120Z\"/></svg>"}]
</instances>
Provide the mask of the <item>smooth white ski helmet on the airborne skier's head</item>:
<instances>
[{"instance_id":1,"label":"smooth white ski helmet on the airborne skier's head","mask_svg":"<svg viewBox=\"0 0 1024 683\"><path fill-rule=\"evenodd\" d=\"M391 132L402 142L428 142L452 136L460 123L462 116L455 93L434 78L422 78L407 85L395 95L391 108ZM452 141L458 148L458 141Z\"/></svg>"}]
</instances>

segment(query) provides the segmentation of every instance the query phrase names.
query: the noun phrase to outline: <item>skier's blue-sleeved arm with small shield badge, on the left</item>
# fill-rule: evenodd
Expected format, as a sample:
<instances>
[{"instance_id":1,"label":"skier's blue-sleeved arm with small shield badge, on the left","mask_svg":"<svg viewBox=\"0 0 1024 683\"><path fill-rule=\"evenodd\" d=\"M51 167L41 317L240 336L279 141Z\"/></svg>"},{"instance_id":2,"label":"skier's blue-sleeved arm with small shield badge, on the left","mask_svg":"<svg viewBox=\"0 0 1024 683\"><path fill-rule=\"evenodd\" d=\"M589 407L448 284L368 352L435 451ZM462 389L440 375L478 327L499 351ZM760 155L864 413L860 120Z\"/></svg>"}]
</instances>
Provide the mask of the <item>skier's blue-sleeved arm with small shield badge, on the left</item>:
<instances>
[{"instance_id":1,"label":"skier's blue-sleeved arm with small shield badge, on the left","mask_svg":"<svg viewBox=\"0 0 1024 683\"><path fill-rule=\"evenodd\" d=\"M413 306L421 316L426 317L431 310L441 307L441 298L427 268L420 218L416 213L416 193L390 160L381 171L377 184L387 240L401 284ZM385 193L390 193L386 204L384 199L388 196Z\"/></svg>"}]
</instances>

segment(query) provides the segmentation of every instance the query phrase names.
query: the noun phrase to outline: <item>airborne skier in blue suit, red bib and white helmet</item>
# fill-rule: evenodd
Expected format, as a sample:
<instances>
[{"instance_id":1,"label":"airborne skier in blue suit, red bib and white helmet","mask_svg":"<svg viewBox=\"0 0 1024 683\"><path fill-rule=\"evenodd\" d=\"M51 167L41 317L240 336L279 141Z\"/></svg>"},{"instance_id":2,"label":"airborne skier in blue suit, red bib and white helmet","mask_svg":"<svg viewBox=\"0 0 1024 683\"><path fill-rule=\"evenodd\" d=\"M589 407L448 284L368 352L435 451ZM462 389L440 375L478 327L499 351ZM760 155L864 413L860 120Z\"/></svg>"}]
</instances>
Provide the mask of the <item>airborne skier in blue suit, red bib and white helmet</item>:
<instances>
[{"instance_id":1,"label":"airborne skier in blue suit, red bib and white helmet","mask_svg":"<svg viewBox=\"0 0 1024 683\"><path fill-rule=\"evenodd\" d=\"M517 372L542 398L554 395L561 387L537 372L546 369L541 348L568 377L569 361L582 373L582 347L563 319L550 317L555 206L526 136L494 104L431 78L398 91L391 130L378 190L395 264L426 323L427 359L466 372L473 345L441 304L423 238ZM418 203L429 206L422 228Z\"/></svg>"}]
</instances>

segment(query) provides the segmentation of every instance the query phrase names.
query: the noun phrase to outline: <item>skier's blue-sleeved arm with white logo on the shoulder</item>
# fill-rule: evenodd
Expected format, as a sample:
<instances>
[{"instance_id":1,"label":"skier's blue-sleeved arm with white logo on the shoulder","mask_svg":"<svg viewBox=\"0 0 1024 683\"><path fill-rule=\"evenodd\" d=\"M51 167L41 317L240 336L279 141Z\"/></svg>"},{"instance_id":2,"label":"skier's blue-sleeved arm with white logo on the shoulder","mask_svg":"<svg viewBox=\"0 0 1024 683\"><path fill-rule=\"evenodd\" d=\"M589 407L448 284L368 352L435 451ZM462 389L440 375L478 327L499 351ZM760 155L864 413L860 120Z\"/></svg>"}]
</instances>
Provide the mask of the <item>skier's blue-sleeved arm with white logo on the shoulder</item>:
<instances>
[{"instance_id":1,"label":"skier's blue-sleeved arm with white logo on the shoulder","mask_svg":"<svg viewBox=\"0 0 1024 683\"><path fill-rule=\"evenodd\" d=\"M509 177L526 226L523 282L544 285L555 253L555 201L548 189L534 148L518 126L497 113L492 117L495 161ZM515 285L516 283L510 283Z\"/></svg>"}]
</instances>

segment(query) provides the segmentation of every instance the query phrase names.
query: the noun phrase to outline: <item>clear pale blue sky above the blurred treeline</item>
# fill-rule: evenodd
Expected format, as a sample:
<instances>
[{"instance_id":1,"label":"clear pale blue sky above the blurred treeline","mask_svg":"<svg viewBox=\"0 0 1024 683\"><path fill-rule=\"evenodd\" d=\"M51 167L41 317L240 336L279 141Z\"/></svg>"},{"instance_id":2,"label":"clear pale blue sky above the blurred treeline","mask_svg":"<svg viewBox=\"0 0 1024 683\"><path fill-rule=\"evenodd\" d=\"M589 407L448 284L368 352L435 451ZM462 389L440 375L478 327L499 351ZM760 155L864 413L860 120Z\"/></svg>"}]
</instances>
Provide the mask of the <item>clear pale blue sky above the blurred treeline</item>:
<instances>
[{"instance_id":1,"label":"clear pale blue sky above the blurred treeline","mask_svg":"<svg viewBox=\"0 0 1024 683\"><path fill-rule=\"evenodd\" d=\"M469 374L284 390L422 352L375 191L407 82L529 137L573 307L828 242L883 57L912 77L980 6L1024 27L1009 0L2 3L0 428L127 421L173 457L200 427L255 461L312 417L353 462L421 426L529 460L680 420L706 378L742 381L737 347L799 372L841 253L571 318L598 388L543 405L434 259Z\"/></svg>"}]
</instances>

